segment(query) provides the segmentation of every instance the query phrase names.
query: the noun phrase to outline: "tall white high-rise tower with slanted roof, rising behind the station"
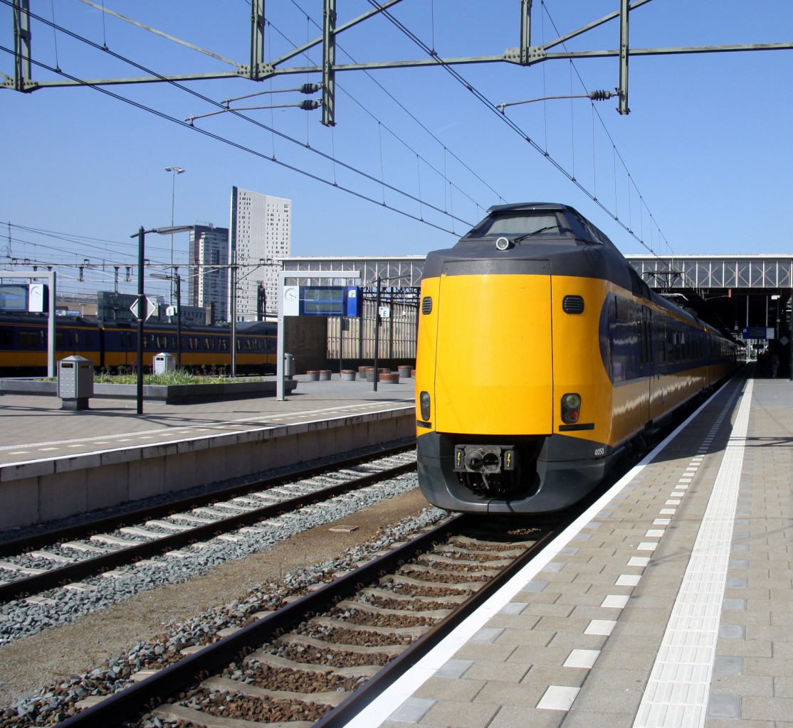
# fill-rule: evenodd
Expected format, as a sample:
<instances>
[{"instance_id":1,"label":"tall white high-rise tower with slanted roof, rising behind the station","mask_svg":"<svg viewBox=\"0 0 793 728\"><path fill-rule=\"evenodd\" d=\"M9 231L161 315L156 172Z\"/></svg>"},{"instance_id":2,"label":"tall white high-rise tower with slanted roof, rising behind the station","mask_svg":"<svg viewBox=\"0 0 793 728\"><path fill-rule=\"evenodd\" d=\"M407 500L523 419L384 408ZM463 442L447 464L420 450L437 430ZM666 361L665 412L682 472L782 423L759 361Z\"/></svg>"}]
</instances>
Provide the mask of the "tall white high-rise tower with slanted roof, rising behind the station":
<instances>
[{"instance_id":1,"label":"tall white high-rise tower with slanted roof, rising behind the station","mask_svg":"<svg viewBox=\"0 0 793 728\"><path fill-rule=\"evenodd\" d=\"M237 320L256 321L276 309L278 271L292 246L292 200L233 187L230 230L229 258L237 265Z\"/></svg>"}]
</instances>

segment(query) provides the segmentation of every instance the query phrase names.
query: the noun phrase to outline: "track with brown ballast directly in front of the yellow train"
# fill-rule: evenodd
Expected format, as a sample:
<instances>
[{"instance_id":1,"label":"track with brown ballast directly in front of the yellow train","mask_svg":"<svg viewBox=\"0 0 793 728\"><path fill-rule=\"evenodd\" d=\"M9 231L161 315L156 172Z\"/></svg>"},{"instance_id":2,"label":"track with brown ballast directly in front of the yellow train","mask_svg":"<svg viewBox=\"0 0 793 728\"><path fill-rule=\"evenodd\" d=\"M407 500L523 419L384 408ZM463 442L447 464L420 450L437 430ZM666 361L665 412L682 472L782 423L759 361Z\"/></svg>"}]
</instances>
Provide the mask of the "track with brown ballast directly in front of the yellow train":
<instances>
[{"instance_id":1,"label":"track with brown ballast directly in front of the yellow train","mask_svg":"<svg viewBox=\"0 0 793 728\"><path fill-rule=\"evenodd\" d=\"M448 518L193 654L142 670L92 707L63 708L61 719L73 717L60 724L341 726L567 522L509 531Z\"/></svg>"}]
</instances>

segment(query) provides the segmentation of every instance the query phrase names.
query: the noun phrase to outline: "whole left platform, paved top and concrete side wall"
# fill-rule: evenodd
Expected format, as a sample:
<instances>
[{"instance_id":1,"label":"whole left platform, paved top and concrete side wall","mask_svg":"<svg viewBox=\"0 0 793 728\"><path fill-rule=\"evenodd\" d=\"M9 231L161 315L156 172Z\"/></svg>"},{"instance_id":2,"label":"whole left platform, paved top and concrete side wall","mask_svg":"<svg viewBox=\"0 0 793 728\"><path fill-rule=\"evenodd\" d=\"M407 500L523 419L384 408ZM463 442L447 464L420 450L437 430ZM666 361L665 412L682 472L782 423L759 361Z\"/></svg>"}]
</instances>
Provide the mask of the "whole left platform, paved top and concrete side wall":
<instances>
[{"instance_id":1,"label":"whole left platform, paved top and concrete side wall","mask_svg":"<svg viewBox=\"0 0 793 728\"><path fill-rule=\"evenodd\" d=\"M169 405L0 397L0 529L244 477L416 432L414 380L308 381L274 397Z\"/></svg>"}]
</instances>

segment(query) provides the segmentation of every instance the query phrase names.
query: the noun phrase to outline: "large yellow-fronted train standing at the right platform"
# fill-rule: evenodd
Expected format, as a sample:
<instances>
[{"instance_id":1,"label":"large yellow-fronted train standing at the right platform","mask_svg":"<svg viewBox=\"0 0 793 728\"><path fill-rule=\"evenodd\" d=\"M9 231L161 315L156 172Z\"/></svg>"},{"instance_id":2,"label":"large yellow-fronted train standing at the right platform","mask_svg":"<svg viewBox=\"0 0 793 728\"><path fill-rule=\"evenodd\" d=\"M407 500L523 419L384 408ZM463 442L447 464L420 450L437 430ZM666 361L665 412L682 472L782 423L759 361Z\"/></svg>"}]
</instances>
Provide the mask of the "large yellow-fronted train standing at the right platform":
<instances>
[{"instance_id":1,"label":"large yellow-fronted train standing at the right platform","mask_svg":"<svg viewBox=\"0 0 793 728\"><path fill-rule=\"evenodd\" d=\"M424 263L419 486L451 511L565 509L741 356L573 208L490 208Z\"/></svg>"}]
</instances>

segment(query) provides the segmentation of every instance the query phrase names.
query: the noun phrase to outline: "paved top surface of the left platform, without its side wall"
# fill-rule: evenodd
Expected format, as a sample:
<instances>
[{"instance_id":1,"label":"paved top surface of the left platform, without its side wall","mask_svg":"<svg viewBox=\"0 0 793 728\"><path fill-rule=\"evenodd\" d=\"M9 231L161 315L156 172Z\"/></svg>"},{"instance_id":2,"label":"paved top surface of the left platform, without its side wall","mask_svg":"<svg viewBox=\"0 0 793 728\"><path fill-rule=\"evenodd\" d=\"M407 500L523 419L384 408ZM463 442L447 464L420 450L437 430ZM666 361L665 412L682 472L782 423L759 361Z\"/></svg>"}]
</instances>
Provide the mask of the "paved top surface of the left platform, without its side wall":
<instances>
[{"instance_id":1,"label":"paved top surface of the left platform, without its side wall","mask_svg":"<svg viewBox=\"0 0 793 728\"><path fill-rule=\"evenodd\" d=\"M189 405L135 400L90 399L89 410L61 410L61 400L42 395L0 396L0 464L136 447L209 434L240 432L412 406L414 379L374 383L356 379L308 382L297 375L297 389L284 401L274 397L233 399Z\"/></svg>"}]
</instances>

